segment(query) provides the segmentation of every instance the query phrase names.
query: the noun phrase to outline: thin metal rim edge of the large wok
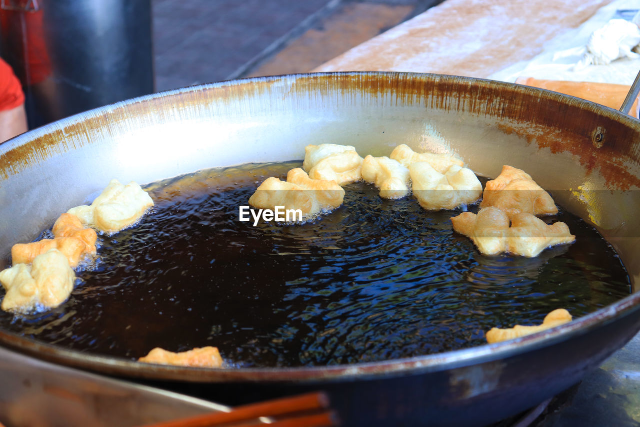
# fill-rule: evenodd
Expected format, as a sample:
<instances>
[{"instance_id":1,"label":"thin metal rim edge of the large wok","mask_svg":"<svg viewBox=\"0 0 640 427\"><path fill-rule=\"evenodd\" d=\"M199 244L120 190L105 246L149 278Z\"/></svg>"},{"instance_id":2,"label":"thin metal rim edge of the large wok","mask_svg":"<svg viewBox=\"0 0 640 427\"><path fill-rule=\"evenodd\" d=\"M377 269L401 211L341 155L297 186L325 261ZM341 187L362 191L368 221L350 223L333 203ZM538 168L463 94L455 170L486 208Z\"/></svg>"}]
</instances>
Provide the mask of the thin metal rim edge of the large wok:
<instances>
[{"instance_id":1,"label":"thin metal rim edge of the large wok","mask_svg":"<svg viewBox=\"0 0 640 427\"><path fill-rule=\"evenodd\" d=\"M484 83L495 87L516 88L516 92L524 94L538 94L539 97L552 96L554 100L561 101L569 106L585 108L592 112L604 115L621 122L627 126L640 126L640 121L623 114L614 108L599 105L573 96L553 92L547 89L518 85L504 81L472 78L466 76L451 76L448 74L433 74L419 72L399 71L346 71L346 72L308 72L297 74L281 74L277 76L263 76L243 78L236 80L220 81L216 83L204 83L188 87L155 92L140 97L126 99L117 103L93 108L86 112L77 113L65 117L39 128L29 130L17 137L0 143L0 154L10 151L53 130L59 130L65 126L83 121L88 115L107 113L115 108L125 107L134 103L144 103L153 99L173 96L195 90L208 90L216 87L239 85L252 82L279 81L284 78L340 78L340 76L377 76L378 78L408 79L419 78L422 80L449 79L458 85L467 83ZM596 310L588 315L579 317L571 322L556 326L548 330L519 337L513 340L483 344L444 353L413 356L410 358L398 358L378 362L362 362L358 364L323 365L310 367L240 367L240 368L200 368L200 367L176 367L170 365L146 364L128 358L118 356L103 356L90 352L67 349L55 344L47 344L36 339L31 339L0 329L0 346L17 350L21 353L36 356L49 362L78 367L98 373L116 374L132 378L147 378L152 380L175 380L188 382L230 382L230 381L326 381L344 380L348 378L380 378L390 375L409 375L418 373L438 372L456 367L476 365L494 360L509 358L512 356L534 351L542 347L552 346L559 342L572 339L588 333L591 330L616 321L622 317L640 310L640 292L634 292L627 297ZM631 337L629 337L630 339ZM612 348L611 352L619 347Z\"/></svg>"}]
</instances>

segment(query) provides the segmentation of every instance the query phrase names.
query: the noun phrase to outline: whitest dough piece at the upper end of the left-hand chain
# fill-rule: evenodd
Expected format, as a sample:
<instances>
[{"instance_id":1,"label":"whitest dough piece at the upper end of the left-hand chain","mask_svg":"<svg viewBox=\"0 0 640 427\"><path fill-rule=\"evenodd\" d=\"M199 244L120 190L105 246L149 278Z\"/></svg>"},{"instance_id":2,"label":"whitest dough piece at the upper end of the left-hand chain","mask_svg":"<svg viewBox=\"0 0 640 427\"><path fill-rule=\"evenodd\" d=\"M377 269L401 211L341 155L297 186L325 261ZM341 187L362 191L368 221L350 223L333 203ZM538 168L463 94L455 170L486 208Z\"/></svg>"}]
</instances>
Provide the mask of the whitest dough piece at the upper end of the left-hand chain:
<instances>
[{"instance_id":1,"label":"whitest dough piece at the upper end of the left-hand chain","mask_svg":"<svg viewBox=\"0 0 640 427\"><path fill-rule=\"evenodd\" d=\"M134 224L153 205L151 197L134 181L122 185L111 180L90 206L76 206L67 213L76 215L84 225L113 234Z\"/></svg>"}]
</instances>

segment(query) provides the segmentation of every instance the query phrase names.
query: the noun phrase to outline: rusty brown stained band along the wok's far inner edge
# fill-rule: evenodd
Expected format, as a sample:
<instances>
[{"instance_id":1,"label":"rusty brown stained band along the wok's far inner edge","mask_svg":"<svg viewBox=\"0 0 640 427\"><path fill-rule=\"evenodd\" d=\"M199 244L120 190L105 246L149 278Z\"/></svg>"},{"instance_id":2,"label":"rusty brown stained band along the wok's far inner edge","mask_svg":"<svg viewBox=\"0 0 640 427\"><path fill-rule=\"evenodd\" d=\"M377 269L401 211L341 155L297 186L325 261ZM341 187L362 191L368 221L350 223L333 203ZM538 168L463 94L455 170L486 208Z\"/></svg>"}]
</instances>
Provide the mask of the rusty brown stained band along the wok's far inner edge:
<instances>
[{"instance_id":1,"label":"rusty brown stained band along the wok's far inner edge","mask_svg":"<svg viewBox=\"0 0 640 427\"><path fill-rule=\"evenodd\" d=\"M80 113L43 126L29 132L32 138L26 143L22 142L20 137L4 142L9 144L9 147L0 153L0 178L7 178L24 170L28 165L78 148L74 142L67 143L69 137L86 135L93 128L109 130L113 124L122 122L131 115L145 115L148 112L148 103L153 103L154 113L160 120L165 117L173 119L172 105L198 106L214 100L242 99L244 96L267 92L269 87L278 83L278 77L250 78L168 90L96 108L88 112L93 113L91 115ZM640 133L631 129L637 121L627 115L621 115L612 108L533 87L440 74L332 72L297 74L292 77L294 80L291 81L289 92L315 90L328 93L337 90L348 93L356 88L358 92L374 95L392 93L398 97L398 101L407 104L411 104L412 99L416 97L431 95L428 108L461 110L472 115L499 115L514 122L529 121L531 110L524 106L530 103L531 99L538 103L548 103L554 106L552 109L549 108L552 113L538 115L536 119L538 124L547 129L555 129L557 133L541 135L530 142L538 144L540 148L550 149L551 153L570 151L573 155L579 156L580 163L589 171L597 167L612 187L620 190L640 187L640 177L625 171L621 163L621 158L625 155L637 160L640 146L634 142ZM193 96L196 91L198 96ZM494 103L492 99L508 99L509 103ZM166 116L163 115L164 111L168 112ZM578 113L573 118L571 127L567 127L566 122L562 120L568 113ZM590 143L594 137L593 131L598 126L604 129L616 128L618 133L605 135L606 139L602 148L597 151L597 156L593 151L582 149L579 144L562 142L564 134L571 134L575 139L575 134L582 133L584 142ZM514 127L499 125L499 128L506 133L513 132L531 138Z\"/></svg>"}]
</instances>

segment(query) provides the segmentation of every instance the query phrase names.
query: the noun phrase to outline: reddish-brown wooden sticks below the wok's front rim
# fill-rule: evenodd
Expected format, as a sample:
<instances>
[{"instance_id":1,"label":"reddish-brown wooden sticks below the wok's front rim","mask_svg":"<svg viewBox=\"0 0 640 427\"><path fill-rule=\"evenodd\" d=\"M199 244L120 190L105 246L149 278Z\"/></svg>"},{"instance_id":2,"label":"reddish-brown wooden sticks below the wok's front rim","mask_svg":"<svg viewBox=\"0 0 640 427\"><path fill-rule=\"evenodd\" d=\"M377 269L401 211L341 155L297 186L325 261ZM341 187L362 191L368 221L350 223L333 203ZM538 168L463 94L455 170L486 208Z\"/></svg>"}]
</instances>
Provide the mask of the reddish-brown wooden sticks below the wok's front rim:
<instances>
[{"instance_id":1,"label":"reddish-brown wooden sticks below the wok's front rim","mask_svg":"<svg viewBox=\"0 0 640 427\"><path fill-rule=\"evenodd\" d=\"M216 424L247 421L259 417L277 417L278 415L328 408L329 399L323 392L301 394L291 398L274 399L251 405L237 406L231 412L214 412L195 415L161 423L146 424L145 427L207 427ZM302 424L300 424L302 425ZM332 424L328 424L332 425Z\"/></svg>"}]
</instances>

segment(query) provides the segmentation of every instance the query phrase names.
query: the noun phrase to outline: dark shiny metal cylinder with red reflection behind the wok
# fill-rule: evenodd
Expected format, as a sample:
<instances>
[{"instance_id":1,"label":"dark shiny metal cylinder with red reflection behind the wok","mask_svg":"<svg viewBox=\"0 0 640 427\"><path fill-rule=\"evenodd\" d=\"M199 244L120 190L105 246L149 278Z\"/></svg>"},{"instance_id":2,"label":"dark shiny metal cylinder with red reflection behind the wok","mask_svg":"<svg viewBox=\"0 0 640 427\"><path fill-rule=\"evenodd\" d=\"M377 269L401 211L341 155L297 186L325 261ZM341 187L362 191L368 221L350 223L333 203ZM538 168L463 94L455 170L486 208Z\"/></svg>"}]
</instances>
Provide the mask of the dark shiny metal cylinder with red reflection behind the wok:
<instances>
[{"instance_id":1,"label":"dark shiny metal cylinder with red reflection behind the wok","mask_svg":"<svg viewBox=\"0 0 640 427\"><path fill-rule=\"evenodd\" d=\"M2 52L22 81L30 128L154 92L150 0L0 6Z\"/></svg>"}]
</instances>

